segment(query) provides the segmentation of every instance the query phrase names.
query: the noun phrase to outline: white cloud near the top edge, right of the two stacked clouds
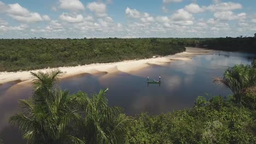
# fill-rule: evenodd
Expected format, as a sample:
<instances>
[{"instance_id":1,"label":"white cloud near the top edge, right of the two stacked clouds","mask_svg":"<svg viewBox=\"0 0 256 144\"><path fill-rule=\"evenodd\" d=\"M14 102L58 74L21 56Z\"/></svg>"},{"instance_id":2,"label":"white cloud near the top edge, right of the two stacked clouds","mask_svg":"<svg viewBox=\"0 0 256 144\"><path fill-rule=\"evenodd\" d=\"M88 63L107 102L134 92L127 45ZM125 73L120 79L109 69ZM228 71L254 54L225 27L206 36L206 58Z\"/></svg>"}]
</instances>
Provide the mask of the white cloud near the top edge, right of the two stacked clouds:
<instances>
[{"instance_id":1,"label":"white cloud near the top edge, right of the two stacked clouds","mask_svg":"<svg viewBox=\"0 0 256 144\"><path fill-rule=\"evenodd\" d=\"M97 17L105 17L106 14L106 4L101 2L91 2L87 4L87 8L94 11Z\"/></svg>"}]
</instances>

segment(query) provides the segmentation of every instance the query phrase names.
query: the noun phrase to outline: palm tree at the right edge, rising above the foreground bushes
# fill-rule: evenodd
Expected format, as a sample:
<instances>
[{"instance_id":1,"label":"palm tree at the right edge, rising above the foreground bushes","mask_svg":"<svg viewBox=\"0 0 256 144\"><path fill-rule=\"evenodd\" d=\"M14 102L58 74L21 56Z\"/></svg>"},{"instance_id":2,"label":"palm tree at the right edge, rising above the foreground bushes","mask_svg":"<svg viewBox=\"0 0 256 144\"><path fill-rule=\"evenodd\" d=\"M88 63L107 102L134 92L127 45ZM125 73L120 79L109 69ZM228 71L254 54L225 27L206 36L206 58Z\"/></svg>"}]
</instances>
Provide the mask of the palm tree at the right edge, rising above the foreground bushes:
<instances>
[{"instance_id":1,"label":"palm tree at the right edge, rising above the foreground bushes","mask_svg":"<svg viewBox=\"0 0 256 144\"><path fill-rule=\"evenodd\" d=\"M239 64L224 72L224 77L216 77L213 82L220 86L231 89L234 93L236 103L241 104L241 97L248 88L256 84L256 70L250 65Z\"/></svg>"}]
</instances>

